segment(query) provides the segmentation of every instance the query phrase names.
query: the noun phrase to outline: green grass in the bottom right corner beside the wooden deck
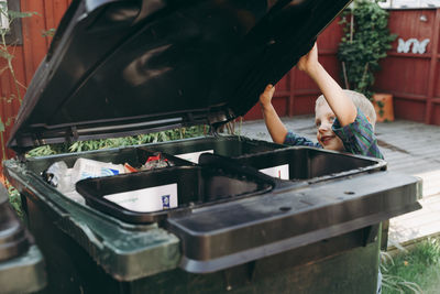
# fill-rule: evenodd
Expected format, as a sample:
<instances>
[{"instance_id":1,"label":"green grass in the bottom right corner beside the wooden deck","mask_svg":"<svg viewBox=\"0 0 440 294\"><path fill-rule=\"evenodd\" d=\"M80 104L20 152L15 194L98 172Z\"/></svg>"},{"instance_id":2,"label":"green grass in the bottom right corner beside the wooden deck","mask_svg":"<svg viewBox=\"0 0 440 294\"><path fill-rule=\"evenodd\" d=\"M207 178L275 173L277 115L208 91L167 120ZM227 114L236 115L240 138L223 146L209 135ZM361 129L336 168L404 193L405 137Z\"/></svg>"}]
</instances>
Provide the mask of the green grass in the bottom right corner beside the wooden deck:
<instances>
[{"instance_id":1,"label":"green grass in the bottom right corner beside the wooden deck","mask_svg":"<svg viewBox=\"0 0 440 294\"><path fill-rule=\"evenodd\" d=\"M440 240L431 238L387 258L382 265L383 293L440 293Z\"/></svg>"}]
</instances>

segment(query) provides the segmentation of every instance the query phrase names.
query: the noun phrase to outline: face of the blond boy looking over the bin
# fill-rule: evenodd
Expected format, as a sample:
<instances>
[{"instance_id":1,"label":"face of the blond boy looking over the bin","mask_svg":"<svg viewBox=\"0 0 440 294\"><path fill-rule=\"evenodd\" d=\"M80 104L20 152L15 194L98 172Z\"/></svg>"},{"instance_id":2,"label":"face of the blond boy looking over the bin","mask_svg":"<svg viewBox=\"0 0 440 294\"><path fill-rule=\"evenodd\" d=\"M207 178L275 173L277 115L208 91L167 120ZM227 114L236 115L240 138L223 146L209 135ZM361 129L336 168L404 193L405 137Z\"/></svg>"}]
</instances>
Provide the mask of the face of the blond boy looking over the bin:
<instances>
[{"instance_id":1,"label":"face of the blond boy looking over the bin","mask_svg":"<svg viewBox=\"0 0 440 294\"><path fill-rule=\"evenodd\" d=\"M344 151L342 140L331 129L334 118L336 116L327 102L321 102L316 107L317 139L323 149Z\"/></svg>"}]
</instances>

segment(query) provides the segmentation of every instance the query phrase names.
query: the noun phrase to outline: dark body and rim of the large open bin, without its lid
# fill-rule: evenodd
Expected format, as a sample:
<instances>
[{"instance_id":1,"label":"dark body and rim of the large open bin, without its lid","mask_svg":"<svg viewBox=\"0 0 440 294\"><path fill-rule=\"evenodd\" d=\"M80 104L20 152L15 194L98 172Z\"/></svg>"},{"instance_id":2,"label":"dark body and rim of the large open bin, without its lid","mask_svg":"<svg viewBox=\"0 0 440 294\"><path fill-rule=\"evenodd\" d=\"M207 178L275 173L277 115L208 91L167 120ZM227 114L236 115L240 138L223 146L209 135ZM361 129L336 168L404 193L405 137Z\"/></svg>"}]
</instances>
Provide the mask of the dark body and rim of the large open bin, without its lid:
<instances>
[{"instance_id":1,"label":"dark body and rim of the large open bin, without its lid","mask_svg":"<svg viewBox=\"0 0 440 294\"><path fill-rule=\"evenodd\" d=\"M330 156L332 162L352 161L348 166L359 167L324 181L280 181L240 160L207 154L201 166L78 183L87 192L98 192L90 196L100 199L102 193L175 179L188 196L175 209L128 215L96 200L90 206L75 203L40 175L53 161L111 161L129 151L133 149L6 162L47 260L50 293L371 293L377 281L377 224L419 207L417 178L386 172L380 160L307 148L298 151ZM220 194L198 188L212 187L199 183L222 173L229 175L227 182L241 175L244 188L220 185Z\"/></svg>"}]
</instances>

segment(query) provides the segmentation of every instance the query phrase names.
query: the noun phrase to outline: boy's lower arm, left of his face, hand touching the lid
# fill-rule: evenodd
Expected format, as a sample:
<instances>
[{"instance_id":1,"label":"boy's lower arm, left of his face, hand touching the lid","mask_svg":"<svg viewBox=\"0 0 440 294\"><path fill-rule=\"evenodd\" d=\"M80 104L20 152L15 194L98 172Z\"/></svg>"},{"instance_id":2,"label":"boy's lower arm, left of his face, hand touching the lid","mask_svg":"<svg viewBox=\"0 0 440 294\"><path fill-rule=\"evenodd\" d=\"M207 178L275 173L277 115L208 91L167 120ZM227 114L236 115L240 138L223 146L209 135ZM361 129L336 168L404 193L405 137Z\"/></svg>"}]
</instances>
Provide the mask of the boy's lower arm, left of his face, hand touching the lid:
<instances>
[{"instance_id":1,"label":"boy's lower arm, left of his face, hand touching the lid","mask_svg":"<svg viewBox=\"0 0 440 294\"><path fill-rule=\"evenodd\" d=\"M275 87L267 85L262 95L260 95L260 104L263 109L264 122L266 123L268 133L275 143L283 144L287 135L287 129L272 106L272 97Z\"/></svg>"}]
</instances>

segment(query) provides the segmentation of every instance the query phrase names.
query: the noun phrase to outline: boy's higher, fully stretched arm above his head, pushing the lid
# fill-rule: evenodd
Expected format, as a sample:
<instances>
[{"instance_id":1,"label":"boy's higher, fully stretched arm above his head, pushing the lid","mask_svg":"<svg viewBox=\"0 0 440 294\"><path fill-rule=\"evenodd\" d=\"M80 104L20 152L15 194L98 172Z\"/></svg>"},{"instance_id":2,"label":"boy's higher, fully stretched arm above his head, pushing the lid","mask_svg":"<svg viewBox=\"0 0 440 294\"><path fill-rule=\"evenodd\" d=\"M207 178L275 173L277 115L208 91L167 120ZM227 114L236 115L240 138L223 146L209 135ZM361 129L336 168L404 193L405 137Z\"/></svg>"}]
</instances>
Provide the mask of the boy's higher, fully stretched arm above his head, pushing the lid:
<instances>
[{"instance_id":1,"label":"boy's higher, fully stretched arm above his head, pushing the lid","mask_svg":"<svg viewBox=\"0 0 440 294\"><path fill-rule=\"evenodd\" d=\"M338 83L318 62L318 46L316 43L312 50L299 59L297 66L298 69L306 72L318 85L341 127L345 127L356 119L358 110L353 101L345 96Z\"/></svg>"}]
</instances>

